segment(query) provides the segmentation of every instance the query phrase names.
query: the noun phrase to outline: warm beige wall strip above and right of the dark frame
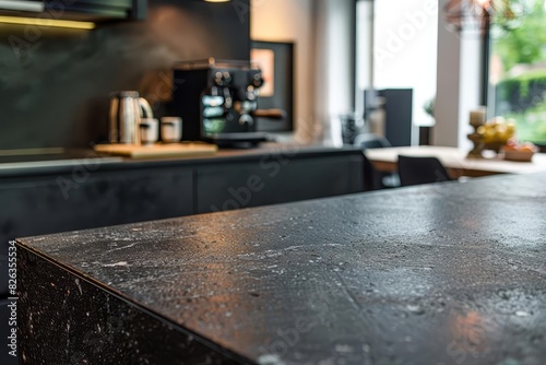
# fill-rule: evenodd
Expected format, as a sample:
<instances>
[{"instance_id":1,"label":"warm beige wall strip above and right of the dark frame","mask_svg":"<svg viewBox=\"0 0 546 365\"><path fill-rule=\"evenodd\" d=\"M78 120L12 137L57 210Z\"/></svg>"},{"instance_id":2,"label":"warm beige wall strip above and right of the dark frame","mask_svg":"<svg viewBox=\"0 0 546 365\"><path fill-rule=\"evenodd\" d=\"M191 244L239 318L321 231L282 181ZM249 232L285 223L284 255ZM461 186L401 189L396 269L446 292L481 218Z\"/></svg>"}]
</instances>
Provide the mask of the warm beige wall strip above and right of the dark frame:
<instances>
[{"instance_id":1,"label":"warm beige wall strip above and right of the dark frame","mask_svg":"<svg viewBox=\"0 0 546 365\"><path fill-rule=\"evenodd\" d=\"M313 0L251 0L253 40L295 44L294 125L299 138L312 138L314 72Z\"/></svg>"}]
</instances>

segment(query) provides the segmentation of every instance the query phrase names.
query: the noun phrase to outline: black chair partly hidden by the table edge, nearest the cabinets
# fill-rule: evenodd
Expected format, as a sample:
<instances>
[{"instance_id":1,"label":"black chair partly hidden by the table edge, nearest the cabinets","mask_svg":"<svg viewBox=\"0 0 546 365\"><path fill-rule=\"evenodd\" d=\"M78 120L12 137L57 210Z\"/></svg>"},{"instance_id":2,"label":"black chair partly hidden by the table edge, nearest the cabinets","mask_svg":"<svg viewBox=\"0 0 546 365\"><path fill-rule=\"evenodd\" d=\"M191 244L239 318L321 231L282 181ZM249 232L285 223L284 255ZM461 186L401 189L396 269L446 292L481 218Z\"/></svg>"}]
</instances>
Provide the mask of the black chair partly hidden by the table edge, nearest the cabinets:
<instances>
[{"instance_id":1,"label":"black chair partly hidden by the table edge, nearest the cabinets","mask_svg":"<svg viewBox=\"0 0 546 365\"><path fill-rule=\"evenodd\" d=\"M375 133L363 133L355 137L353 143L363 150L390 148L391 143L387 138ZM378 190L400 187L397 174L378 172L373 165L364 156L364 184L366 190Z\"/></svg>"}]
</instances>

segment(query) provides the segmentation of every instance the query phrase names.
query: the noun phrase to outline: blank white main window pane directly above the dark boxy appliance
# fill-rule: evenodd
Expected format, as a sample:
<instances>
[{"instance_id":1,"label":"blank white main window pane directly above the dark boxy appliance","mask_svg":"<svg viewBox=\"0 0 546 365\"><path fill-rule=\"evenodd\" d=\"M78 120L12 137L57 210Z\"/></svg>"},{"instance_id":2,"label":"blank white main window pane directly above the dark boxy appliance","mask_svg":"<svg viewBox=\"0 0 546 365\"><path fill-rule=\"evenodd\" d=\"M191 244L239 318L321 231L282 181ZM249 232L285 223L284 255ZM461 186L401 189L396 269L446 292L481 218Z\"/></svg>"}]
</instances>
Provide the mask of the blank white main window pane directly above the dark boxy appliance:
<instances>
[{"instance_id":1,"label":"blank white main window pane directly above the dark boxy appliance","mask_svg":"<svg viewBox=\"0 0 546 365\"><path fill-rule=\"evenodd\" d=\"M412 89L415 126L431 122L424 105L436 95L437 30L438 0L375 1L373 86Z\"/></svg>"}]
</instances>

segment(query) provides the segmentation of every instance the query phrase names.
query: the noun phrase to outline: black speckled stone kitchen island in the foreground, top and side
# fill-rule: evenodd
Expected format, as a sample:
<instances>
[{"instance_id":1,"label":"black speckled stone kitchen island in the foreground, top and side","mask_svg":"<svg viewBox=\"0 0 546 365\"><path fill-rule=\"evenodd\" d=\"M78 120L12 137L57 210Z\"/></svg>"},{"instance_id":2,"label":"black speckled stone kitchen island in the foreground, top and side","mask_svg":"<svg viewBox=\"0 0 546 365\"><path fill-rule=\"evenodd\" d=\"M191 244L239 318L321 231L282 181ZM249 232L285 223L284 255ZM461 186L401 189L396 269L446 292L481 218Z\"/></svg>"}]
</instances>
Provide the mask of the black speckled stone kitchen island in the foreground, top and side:
<instances>
[{"instance_id":1,"label":"black speckled stone kitchen island in the foreground, top and side","mask_svg":"<svg viewBox=\"0 0 546 365\"><path fill-rule=\"evenodd\" d=\"M19 249L23 363L90 356L85 329L112 318L130 329L116 346L103 327L92 333L103 356L132 356L122 363L546 363L546 175L22 238Z\"/></svg>"}]
</instances>

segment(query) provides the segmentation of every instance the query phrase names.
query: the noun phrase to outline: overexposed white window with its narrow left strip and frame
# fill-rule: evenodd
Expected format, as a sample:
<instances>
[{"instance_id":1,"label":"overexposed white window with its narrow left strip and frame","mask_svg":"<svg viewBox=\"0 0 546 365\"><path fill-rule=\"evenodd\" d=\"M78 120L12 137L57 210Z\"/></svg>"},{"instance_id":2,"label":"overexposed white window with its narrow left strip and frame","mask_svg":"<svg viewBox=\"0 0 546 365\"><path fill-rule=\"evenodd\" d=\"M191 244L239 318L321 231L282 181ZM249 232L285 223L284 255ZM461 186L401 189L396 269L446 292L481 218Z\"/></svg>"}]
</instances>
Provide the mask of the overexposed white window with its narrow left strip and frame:
<instances>
[{"instance_id":1,"label":"overexposed white window with its narrow left strip and frame","mask_svg":"<svg viewBox=\"0 0 546 365\"><path fill-rule=\"evenodd\" d=\"M357 110L364 110L369 89L412 90L414 128L430 127L430 104L436 95L438 2L435 0L357 1ZM372 129L369 123L368 129ZM382 133L380 133L382 134Z\"/></svg>"}]
</instances>

